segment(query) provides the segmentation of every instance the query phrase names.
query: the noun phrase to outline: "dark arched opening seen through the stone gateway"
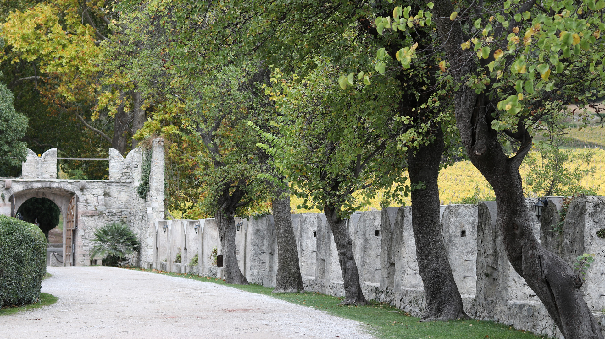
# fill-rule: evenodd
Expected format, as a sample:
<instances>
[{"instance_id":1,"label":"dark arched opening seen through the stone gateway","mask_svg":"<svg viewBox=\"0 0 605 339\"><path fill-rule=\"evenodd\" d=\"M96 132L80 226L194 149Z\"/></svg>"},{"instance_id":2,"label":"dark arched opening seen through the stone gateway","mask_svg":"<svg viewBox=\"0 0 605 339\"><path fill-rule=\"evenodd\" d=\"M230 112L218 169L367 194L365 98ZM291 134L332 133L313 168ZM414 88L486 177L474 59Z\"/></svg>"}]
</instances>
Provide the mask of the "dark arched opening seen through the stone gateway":
<instances>
[{"instance_id":1,"label":"dark arched opening seen through the stone gateway","mask_svg":"<svg viewBox=\"0 0 605 339\"><path fill-rule=\"evenodd\" d=\"M47 198L27 199L19 206L16 216L38 225L48 242L63 242L63 231L58 229L52 232L53 239L49 239L50 231L59 225L61 219L61 210L52 200ZM58 239L56 239L57 237Z\"/></svg>"}]
</instances>

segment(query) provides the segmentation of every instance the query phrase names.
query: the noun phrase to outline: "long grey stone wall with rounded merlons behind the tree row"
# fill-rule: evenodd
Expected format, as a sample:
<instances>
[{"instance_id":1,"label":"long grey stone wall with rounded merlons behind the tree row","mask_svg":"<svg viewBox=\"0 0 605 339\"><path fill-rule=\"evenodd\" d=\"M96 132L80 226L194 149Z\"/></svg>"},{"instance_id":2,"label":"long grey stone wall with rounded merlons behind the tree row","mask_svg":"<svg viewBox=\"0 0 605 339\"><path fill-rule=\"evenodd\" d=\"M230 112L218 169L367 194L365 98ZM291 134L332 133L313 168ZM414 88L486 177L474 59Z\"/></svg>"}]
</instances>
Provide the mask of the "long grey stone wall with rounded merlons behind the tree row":
<instances>
[{"instance_id":1,"label":"long grey stone wall with rounded merlons behind the tree row","mask_svg":"<svg viewBox=\"0 0 605 339\"><path fill-rule=\"evenodd\" d=\"M541 219L532 219L532 228L538 239L553 238L552 228L545 226L558 216L560 198L554 198ZM535 199L527 199L530 216L534 215ZM596 236L605 227L605 197L584 196L572 202L567 213L560 247L570 263L579 253L597 254L595 265L587 275L583 287L584 298L594 310L598 321L605 314L605 239ZM556 213L553 214L553 213ZM448 205L442 207L442 236L454 273L454 280L463 297L465 311L474 318L493 320L536 334L560 337L554 321L540 300L533 294L506 259L503 242L495 229L497 208L495 202L479 205ZM166 256L173 245L162 240L160 225L183 221L160 221L157 228L155 257ZM214 219L198 222L195 241L200 264L187 266L155 260L156 268L180 273L199 273L221 277L221 268L212 263L212 247L220 241ZM277 267L277 247L272 216L242 220L236 237L240 270L251 283L273 287ZM344 295L342 273L330 227L322 213L292 215L298 245L299 262L307 291L330 295ZM359 279L367 299L387 302L419 316L424 311L424 289L416 262L416 244L411 228L411 207L387 207L382 211L353 213L347 221L353 239L353 253L359 269ZM188 233L189 234L189 233ZM190 235L185 235L189 239ZM554 238L553 238L554 239ZM168 239L181 244L182 239ZM164 249L166 248L166 249ZM600 259L603 258L603 259Z\"/></svg>"}]
</instances>

